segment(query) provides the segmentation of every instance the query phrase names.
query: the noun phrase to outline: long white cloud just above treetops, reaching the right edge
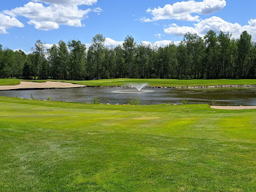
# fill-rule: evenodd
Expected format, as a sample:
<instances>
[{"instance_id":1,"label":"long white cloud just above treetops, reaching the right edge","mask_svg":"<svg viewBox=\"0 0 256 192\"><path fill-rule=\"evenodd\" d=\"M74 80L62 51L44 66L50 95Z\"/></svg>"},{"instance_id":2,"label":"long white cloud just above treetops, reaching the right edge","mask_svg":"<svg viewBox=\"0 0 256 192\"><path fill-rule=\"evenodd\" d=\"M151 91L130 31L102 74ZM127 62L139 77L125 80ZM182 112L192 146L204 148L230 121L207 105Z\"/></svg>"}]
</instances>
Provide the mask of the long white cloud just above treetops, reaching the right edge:
<instances>
[{"instance_id":1,"label":"long white cloud just above treetops, reaching the right edge","mask_svg":"<svg viewBox=\"0 0 256 192\"><path fill-rule=\"evenodd\" d=\"M238 23L229 23L218 17L211 17L194 24L194 27L178 26L177 24L171 24L168 28L164 29L167 34L183 36L185 33L196 33L199 36L205 36L205 34L213 30L216 33L220 31L232 33L233 38L239 38L242 31L247 31L253 36L253 40L256 40L256 19L250 19L248 25L241 26Z\"/></svg>"}]
</instances>

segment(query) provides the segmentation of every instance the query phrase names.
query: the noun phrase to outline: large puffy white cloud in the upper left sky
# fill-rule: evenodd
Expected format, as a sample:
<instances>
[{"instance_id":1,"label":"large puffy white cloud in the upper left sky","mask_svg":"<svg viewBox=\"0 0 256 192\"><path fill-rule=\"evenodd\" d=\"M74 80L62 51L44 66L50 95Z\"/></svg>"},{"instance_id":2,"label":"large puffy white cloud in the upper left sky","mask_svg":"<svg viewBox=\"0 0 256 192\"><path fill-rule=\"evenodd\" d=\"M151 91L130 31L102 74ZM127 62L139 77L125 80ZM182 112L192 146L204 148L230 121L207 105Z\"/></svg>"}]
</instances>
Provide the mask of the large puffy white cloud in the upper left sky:
<instances>
[{"instance_id":1,"label":"large puffy white cloud in the upper left sky","mask_svg":"<svg viewBox=\"0 0 256 192\"><path fill-rule=\"evenodd\" d=\"M73 0L73 1L40 1L45 3L56 3L44 6L42 3L29 2L23 7L14 8L11 10L3 11L4 14L9 16L24 16L29 18L28 24L35 25L36 29L40 30L51 30L58 29L60 25L64 24L67 26L82 27L82 19L88 18L88 13L95 12L101 13L102 9L79 9L78 4L90 4L97 1L85 1L85 0ZM65 5L64 3L68 3ZM58 3L58 4L57 4Z\"/></svg>"}]
</instances>

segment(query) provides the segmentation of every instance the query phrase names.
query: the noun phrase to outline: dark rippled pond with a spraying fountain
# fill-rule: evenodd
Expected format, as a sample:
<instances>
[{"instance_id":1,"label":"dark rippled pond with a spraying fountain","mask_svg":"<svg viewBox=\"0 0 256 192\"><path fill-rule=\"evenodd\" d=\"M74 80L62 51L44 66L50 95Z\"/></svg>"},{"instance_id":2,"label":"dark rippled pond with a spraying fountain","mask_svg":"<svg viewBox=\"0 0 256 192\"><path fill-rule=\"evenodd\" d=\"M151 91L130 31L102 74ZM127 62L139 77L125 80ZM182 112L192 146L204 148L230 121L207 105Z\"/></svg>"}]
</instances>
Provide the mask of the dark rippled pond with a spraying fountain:
<instances>
[{"instance_id":1,"label":"dark rippled pond with a spraying fountain","mask_svg":"<svg viewBox=\"0 0 256 192\"><path fill-rule=\"evenodd\" d=\"M1 90L0 95L46 100L51 97L55 101L92 103L93 98L104 104L127 104L129 100L139 99L142 105L152 104L181 104L183 99L188 104L216 105L256 105L256 88L143 88L141 92L134 88L64 88L50 90Z\"/></svg>"}]
</instances>

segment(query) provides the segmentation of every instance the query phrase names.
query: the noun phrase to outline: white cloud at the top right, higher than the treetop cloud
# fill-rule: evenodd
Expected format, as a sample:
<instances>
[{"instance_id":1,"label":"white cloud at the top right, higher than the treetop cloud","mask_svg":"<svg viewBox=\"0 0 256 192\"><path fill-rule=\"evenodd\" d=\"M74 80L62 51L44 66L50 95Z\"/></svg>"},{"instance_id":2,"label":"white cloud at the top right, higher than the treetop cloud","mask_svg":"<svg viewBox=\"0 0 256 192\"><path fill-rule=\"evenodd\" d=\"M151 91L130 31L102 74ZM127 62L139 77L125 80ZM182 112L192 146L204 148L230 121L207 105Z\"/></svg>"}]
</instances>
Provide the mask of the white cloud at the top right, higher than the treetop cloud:
<instances>
[{"instance_id":1,"label":"white cloud at the top right, higher than the treetop cloud","mask_svg":"<svg viewBox=\"0 0 256 192\"><path fill-rule=\"evenodd\" d=\"M152 14L152 19L142 18L143 22L158 21L161 19L176 19L181 21L200 21L199 16L192 14L211 14L220 11L226 6L225 0L203 0L182 1L171 4L166 4L163 8L147 9L147 13Z\"/></svg>"}]
</instances>

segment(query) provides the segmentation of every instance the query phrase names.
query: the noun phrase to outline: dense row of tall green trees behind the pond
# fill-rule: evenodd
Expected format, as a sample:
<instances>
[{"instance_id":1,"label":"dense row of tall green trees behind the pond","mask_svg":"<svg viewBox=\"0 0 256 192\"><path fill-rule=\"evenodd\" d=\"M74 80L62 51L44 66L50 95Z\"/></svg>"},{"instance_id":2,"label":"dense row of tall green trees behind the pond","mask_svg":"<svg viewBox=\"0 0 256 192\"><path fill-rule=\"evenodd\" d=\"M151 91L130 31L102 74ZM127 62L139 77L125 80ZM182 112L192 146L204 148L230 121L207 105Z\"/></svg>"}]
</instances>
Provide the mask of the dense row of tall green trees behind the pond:
<instances>
[{"instance_id":1,"label":"dense row of tall green trees behind the pond","mask_svg":"<svg viewBox=\"0 0 256 192\"><path fill-rule=\"evenodd\" d=\"M215 31L201 38L186 33L179 45L137 44L130 35L116 47L97 34L86 48L79 40L59 41L45 49L36 41L31 53L0 45L0 78L92 80L104 78L256 78L256 43Z\"/></svg>"}]
</instances>

